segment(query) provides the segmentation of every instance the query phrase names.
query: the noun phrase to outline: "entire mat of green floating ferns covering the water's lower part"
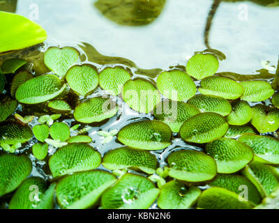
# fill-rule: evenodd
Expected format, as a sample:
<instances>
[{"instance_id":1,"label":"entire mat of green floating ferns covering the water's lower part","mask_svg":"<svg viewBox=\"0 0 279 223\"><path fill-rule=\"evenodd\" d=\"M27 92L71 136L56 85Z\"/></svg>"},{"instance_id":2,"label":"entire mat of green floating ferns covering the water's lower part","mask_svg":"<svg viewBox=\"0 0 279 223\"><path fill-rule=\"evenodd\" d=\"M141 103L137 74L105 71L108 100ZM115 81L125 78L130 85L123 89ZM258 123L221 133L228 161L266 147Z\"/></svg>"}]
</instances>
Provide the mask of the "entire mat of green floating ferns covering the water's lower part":
<instances>
[{"instance_id":1,"label":"entire mat of green floating ferns covering the water's lower part","mask_svg":"<svg viewBox=\"0 0 279 223\"><path fill-rule=\"evenodd\" d=\"M218 72L216 52L169 70L86 43L0 56L0 207L270 207L279 70Z\"/></svg>"}]
</instances>

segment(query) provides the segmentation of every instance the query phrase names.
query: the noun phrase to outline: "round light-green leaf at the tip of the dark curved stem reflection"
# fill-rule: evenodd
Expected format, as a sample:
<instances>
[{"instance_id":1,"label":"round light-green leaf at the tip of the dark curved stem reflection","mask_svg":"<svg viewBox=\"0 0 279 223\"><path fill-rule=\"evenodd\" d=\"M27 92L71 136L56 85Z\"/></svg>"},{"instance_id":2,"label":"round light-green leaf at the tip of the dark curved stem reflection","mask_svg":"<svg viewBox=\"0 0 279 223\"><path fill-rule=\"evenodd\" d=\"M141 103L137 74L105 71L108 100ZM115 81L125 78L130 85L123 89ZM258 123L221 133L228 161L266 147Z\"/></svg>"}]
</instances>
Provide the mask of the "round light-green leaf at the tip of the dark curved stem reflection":
<instances>
[{"instance_id":1,"label":"round light-green leaf at the tip of the dark curved stem reflection","mask_svg":"<svg viewBox=\"0 0 279 223\"><path fill-rule=\"evenodd\" d=\"M195 54L186 64L188 75L203 79L214 75L219 67L219 61L213 54Z\"/></svg>"}]
</instances>

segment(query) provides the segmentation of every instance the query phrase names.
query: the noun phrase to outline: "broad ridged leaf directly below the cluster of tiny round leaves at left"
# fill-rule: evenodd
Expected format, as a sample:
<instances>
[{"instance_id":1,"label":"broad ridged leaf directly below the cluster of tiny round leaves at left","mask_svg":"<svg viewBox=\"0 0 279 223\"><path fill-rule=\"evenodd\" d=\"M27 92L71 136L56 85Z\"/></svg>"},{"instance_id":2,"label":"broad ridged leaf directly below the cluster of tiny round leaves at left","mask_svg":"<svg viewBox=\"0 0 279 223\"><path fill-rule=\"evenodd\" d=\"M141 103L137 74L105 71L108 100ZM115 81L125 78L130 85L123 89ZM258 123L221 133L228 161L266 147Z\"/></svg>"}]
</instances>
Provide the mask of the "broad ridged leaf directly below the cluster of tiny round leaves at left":
<instances>
[{"instance_id":1,"label":"broad ridged leaf directly below the cluster of tiny round leaves at left","mask_svg":"<svg viewBox=\"0 0 279 223\"><path fill-rule=\"evenodd\" d=\"M52 175L63 176L77 171L86 171L99 167L100 153L86 144L69 144L59 148L50 157L49 166Z\"/></svg>"}]
</instances>

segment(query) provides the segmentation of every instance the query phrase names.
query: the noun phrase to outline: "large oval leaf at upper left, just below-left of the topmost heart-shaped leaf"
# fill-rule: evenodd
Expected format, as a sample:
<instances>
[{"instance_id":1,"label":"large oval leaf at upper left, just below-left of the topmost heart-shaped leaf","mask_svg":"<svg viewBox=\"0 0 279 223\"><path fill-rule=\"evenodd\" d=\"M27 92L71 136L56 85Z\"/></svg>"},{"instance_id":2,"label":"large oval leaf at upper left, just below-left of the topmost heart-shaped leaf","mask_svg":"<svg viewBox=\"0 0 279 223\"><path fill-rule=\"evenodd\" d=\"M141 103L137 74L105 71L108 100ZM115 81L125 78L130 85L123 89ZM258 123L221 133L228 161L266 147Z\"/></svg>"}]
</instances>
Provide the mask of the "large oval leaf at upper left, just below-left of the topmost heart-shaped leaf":
<instances>
[{"instance_id":1,"label":"large oval leaf at upper left, just below-left of the topmost heart-shaped leaf","mask_svg":"<svg viewBox=\"0 0 279 223\"><path fill-rule=\"evenodd\" d=\"M55 98L65 87L55 75L41 75L20 85L15 98L24 104L38 104Z\"/></svg>"}]
</instances>

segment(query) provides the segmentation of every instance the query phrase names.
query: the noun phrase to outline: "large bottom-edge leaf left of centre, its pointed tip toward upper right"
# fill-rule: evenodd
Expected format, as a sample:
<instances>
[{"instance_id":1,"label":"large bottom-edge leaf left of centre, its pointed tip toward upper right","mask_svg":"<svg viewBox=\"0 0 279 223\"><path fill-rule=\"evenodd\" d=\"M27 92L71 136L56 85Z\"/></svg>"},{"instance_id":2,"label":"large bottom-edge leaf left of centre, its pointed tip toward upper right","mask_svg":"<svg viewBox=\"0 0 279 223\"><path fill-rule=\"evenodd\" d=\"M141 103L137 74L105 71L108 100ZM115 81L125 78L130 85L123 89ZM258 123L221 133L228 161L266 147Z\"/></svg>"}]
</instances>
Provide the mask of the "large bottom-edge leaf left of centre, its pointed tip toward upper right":
<instances>
[{"instance_id":1,"label":"large bottom-edge leaf left of centre, its pointed tip toward upper right","mask_svg":"<svg viewBox=\"0 0 279 223\"><path fill-rule=\"evenodd\" d=\"M57 184L57 199L62 208L90 208L115 182L115 176L105 171L86 171L66 176Z\"/></svg>"}]
</instances>

